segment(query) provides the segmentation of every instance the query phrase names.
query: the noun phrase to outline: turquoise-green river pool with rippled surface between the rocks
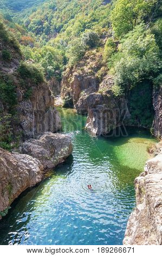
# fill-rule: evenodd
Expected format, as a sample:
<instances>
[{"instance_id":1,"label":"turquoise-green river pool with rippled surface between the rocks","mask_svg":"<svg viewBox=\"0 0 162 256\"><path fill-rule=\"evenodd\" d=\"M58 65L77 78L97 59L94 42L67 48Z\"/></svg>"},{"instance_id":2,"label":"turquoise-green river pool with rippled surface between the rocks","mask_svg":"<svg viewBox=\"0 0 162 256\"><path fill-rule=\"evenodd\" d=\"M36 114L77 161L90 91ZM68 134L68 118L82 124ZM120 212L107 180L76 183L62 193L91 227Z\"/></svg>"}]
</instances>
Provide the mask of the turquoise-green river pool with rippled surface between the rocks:
<instances>
[{"instance_id":1,"label":"turquoise-green river pool with rippled surface between the rocks","mask_svg":"<svg viewBox=\"0 0 162 256\"><path fill-rule=\"evenodd\" d=\"M135 206L133 181L148 159L150 133L92 137L86 117L61 111L74 150L46 180L23 192L0 221L1 245L121 245ZM92 184L93 190L87 189Z\"/></svg>"}]
</instances>

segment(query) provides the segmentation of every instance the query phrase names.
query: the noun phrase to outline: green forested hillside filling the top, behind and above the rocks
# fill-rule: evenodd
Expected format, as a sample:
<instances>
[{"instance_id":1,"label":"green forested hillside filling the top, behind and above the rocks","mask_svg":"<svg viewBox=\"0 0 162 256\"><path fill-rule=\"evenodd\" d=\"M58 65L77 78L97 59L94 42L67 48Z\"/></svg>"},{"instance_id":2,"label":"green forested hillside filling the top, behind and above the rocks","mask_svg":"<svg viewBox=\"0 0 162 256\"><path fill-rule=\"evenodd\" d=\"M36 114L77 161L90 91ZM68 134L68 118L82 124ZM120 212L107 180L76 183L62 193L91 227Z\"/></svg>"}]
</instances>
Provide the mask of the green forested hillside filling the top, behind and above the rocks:
<instances>
[{"instance_id":1,"label":"green forested hillside filling the top, behind and above the rocks","mask_svg":"<svg viewBox=\"0 0 162 256\"><path fill-rule=\"evenodd\" d=\"M1 1L1 9L2 26L16 37L23 59L39 65L41 80L61 81L66 69L82 72L80 62L99 58L88 72L99 83L111 75L114 96L129 99L132 124L152 126L152 89L162 79L161 0L17 0ZM10 65L10 49L2 54ZM26 62L21 69L27 77L33 72ZM141 88L147 93L140 101Z\"/></svg>"}]
</instances>

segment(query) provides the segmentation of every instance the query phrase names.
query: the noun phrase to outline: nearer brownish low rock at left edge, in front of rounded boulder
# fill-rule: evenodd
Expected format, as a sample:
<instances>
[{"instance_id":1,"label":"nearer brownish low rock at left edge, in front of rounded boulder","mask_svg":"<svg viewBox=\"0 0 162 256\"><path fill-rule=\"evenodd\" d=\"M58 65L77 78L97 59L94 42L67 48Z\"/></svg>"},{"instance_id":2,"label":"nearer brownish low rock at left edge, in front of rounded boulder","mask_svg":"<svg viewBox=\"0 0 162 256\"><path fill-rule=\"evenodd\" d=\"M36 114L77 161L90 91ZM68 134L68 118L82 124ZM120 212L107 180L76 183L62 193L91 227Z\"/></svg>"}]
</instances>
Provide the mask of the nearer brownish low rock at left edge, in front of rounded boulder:
<instances>
[{"instance_id":1,"label":"nearer brownish low rock at left edge, in front of rounded boulder","mask_svg":"<svg viewBox=\"0 0 162 256\"><path fill-rule=\"evenodd\" d=\"M0 155L0 212L2 212L26 188L42 180L43 166L39 160L29 155L11 154L1 148Z\"/></svg>"}]
</instances>

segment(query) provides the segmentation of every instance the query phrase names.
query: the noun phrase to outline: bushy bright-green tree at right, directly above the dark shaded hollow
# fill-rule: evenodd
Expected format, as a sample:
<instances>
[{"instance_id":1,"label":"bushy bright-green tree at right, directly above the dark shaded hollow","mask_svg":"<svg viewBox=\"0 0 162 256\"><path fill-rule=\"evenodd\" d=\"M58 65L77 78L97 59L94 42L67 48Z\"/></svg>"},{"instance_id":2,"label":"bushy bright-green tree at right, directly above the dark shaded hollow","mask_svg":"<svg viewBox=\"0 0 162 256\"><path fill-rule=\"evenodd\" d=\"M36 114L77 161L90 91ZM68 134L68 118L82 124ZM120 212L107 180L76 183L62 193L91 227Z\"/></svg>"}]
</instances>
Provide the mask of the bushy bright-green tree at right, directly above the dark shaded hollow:
<instances>
[{"instance_id":1,"label":"bushy bright-green tree at right, directly above the dark shaded hollow","mask_svg":"<svg viewBox=\"0 0 162 256\"><path fill-rule=\"evenodd\" d=\"M120 45L121 59L115 64L115 84L127 89L144 78L153 80L161 68L154 35L141 24L129 32Z\"/></svg>"}]
</instances>

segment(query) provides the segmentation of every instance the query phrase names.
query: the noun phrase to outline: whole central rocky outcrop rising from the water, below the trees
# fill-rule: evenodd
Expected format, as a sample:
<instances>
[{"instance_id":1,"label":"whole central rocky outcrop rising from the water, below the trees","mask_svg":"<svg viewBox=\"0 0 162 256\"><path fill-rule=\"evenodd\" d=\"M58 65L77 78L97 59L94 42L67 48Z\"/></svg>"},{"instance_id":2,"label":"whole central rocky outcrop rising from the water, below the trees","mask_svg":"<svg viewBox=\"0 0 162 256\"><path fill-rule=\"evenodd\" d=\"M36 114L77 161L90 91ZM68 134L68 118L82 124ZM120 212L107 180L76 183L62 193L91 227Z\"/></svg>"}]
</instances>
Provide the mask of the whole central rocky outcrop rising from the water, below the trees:
<instances>
[{"instance_id":1,"label":"whole central rocky outcrop rising from the water, below the trees","mask_svg":"<svg viewBox=\"0 0 162 256\"><path fill-rule=\"evenodd\" d=\"M61 97L71 99L77 113L88 114L86 129L94 135L105 135L129 118L127 101L114 96L113 85L113 76L107 75L102 55L95 50L64 73Z\"/></svg>"}]
</instances>

